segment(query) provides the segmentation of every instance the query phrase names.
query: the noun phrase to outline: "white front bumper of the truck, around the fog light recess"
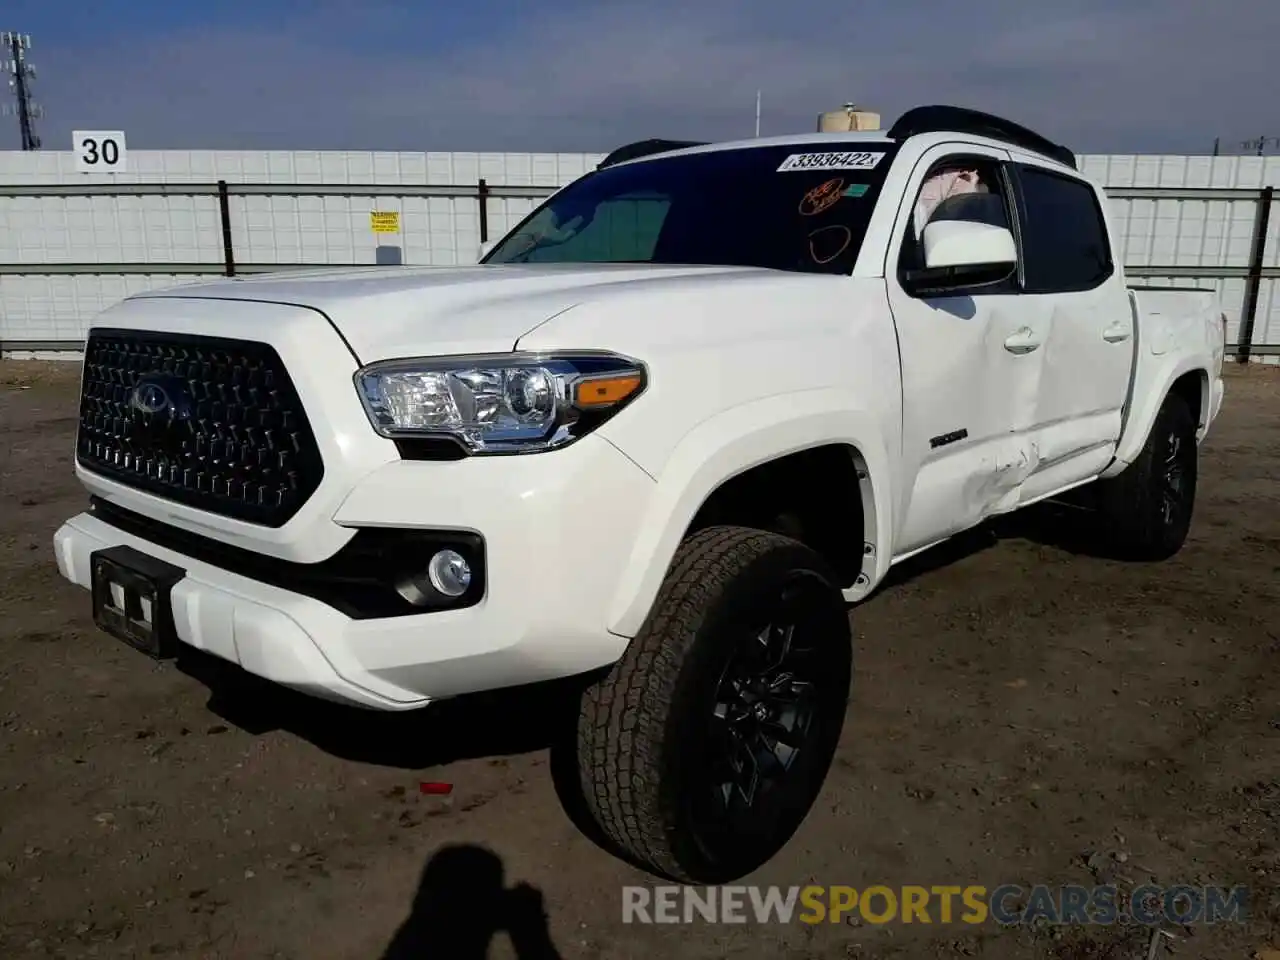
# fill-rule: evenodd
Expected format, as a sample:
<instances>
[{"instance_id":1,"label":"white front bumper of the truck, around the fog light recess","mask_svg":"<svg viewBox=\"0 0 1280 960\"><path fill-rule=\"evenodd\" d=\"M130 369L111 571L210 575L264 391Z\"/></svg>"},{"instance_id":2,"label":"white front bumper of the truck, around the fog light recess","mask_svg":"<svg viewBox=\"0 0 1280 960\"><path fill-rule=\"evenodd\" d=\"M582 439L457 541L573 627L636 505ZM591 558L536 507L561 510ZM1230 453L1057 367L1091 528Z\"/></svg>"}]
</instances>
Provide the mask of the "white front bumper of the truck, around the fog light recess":
<instances>
[{"instance_id":1,"label":"white front bumper of the truck, around the fog light recess","mask_svg":"<svg viewBox=\"0 0 1280 960\"><path fill-rule=\"evenodd\" d=\"M572 676L616 660L608 632L653 480L612 444L393 462L366 476L326 522L467 530L485 539L474 607L353 620L320 599L183 556L81 513L54 536L63 576L90 588L90 554L115 545L182 567L172 593L182 643L307 694L384 710Z\"/></svg>"}]
</instances>

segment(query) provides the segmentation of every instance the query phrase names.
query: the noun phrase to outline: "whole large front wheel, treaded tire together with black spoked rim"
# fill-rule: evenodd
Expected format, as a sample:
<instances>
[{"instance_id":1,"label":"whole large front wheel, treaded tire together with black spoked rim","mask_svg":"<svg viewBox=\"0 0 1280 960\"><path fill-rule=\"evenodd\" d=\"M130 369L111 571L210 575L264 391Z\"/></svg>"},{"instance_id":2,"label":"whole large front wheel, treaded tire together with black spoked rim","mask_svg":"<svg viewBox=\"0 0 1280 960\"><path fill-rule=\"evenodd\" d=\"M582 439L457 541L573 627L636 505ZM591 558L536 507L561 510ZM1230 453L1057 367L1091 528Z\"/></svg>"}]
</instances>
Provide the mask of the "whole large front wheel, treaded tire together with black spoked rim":
<instances>
[{"instance_id":1,"label":"whole large front wheel, treaded tire together with black spoked rim","mask_svg":"<svg viewBox=\"0 0 1280 960\"><path fill-rule=\"evenodd\" d=\"M822 788L851 660L845 603L818 554L745 527L694 534L640 632L582 696L579 769L593 818L659 876L750 873Z\"/></svg>"}]
</instances>

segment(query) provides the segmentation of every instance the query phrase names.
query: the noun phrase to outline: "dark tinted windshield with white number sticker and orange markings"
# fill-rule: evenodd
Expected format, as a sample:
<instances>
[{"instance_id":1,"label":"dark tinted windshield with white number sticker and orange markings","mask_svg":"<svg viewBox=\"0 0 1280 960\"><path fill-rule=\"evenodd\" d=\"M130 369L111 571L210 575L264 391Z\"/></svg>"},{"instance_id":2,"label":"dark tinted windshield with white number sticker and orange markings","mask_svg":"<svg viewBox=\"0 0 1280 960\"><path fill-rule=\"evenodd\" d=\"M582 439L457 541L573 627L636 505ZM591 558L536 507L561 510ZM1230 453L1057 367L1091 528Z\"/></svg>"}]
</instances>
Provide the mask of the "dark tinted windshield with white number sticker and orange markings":
<instances>
[{"instance_id":1,"label":"dark tinted windshield with white number sticker and orange markings","mask_svg":"<svg viewBox=\"0 0 1280 960\"><path fill-rule=\"evenodd\" d=\"M896 145L841 146L745 147L609 166L550 197L483 262L847 274Z\"/></svg>"}]
</instances>

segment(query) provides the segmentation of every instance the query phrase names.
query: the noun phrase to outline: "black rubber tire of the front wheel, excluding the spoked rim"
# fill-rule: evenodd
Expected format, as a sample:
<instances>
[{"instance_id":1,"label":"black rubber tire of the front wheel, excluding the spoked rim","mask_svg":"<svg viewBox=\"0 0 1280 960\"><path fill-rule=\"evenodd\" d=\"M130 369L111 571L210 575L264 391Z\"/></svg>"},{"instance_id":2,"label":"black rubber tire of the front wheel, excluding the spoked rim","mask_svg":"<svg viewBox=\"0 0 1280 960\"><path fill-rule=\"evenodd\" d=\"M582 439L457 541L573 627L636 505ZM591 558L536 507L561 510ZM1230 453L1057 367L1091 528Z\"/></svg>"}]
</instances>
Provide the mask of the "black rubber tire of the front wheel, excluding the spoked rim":
<instances>
[{"instance_id":1,"label":"black rubber tire of the front wheel, excluding the spoked rim","mask_svg":"<svg viewBox=\"0 0 1280 960\"><path fill-rule=\"evenodd\" d=\"M791 582L803 584L796 603L805 611L806 636L822 637L827 675L814 694L820 707L810 714L820 719L812 742L800 748L809 750L809 760L797 763L794 790L774 794L785 813L763 835L726 833L724 824L705 828L685 799L701 785L699 750L716 742L701 733L704 716L709 724L723 664L737 655L744 630L751 637L750 625L768 613L771 591L781 594ZM851 648L840 589L812 549L746 527L714 526L691 535L677 549L640 632L582 695L577 758L590 815L620 854L658 876L723 883L751 872L791 838L822 788L849 699Z\"/></svg>"}]
</instances>

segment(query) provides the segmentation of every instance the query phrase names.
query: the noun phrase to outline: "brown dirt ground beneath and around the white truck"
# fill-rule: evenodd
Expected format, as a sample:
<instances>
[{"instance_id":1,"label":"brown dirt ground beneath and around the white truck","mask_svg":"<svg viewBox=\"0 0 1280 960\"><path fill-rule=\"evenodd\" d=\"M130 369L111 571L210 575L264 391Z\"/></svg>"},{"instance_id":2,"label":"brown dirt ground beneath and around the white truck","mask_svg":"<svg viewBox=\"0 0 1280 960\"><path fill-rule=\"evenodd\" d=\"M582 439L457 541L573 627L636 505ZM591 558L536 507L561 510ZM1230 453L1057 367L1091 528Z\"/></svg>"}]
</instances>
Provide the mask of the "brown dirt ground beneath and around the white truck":
<instances>
[{"instance_id":1,"label":"brown dirt ground beneath and around the white truck","mask_svg":"<svg viewBox=\"0 0 1280 960\"><path fill-rule=\"evenodd\" d=\"M855 608L836 767L748 882L1248 884L1247 924L1158 946L1280 948L1277 372L1233 370L1172 561L1043 511ZM622 924L652 881L566 813L554 692L366 714L93 628L50 545L77 374L0 362L0 957L1148 956L1134 927Z\"/></svg>"}]
</instances>

